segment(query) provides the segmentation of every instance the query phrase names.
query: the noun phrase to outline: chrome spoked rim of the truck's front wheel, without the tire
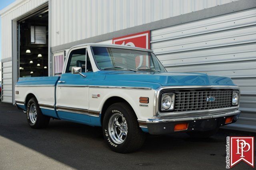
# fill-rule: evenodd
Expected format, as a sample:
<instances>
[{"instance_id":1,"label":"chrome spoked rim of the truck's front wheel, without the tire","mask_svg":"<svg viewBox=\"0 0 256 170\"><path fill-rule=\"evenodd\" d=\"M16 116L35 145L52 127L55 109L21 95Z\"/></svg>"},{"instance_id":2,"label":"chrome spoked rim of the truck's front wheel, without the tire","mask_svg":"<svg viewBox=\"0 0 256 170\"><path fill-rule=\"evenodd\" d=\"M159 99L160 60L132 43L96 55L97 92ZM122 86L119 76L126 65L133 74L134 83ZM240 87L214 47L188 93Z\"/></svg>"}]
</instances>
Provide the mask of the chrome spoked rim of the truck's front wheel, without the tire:
<instances>
[{"instance_id":1,"label":"chrome spoked rim of the truck's front wheel, without the tire","mask_svg":"<svg viewBox=\"0 0 256 170\"><path fill-rule=\"evenodd\" d=\"M117 144L121 144L126 139L128 127L125 118L120 113L112 115L108 122L110 138Z\"/></svg>"}]
</instances>

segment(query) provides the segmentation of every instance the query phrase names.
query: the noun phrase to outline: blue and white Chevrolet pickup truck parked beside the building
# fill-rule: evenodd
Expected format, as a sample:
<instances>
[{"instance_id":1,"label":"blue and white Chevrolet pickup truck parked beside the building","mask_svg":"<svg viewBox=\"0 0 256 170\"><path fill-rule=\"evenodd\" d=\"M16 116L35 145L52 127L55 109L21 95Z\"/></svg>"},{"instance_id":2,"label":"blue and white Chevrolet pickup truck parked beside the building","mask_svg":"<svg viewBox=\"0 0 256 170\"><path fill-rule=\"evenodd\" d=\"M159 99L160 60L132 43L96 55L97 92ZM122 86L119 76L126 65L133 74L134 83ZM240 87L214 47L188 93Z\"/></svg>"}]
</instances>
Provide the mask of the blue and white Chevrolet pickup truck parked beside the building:
<instances>
[{"instance_id":1,"label":"blue and white Chevrolet pickup truck parked beside the building","mask_svg":"<svg viewBox=\"0 0 256 170\"><path fill-rule=\"evenodd\" d=\"M122 45L72 47L60 77L20 78L15 93L30 127L50 118L102 127L121 153L140 148L146 133L209 137L240 114L230 78L168 73L153 51Z\"/></svg>"}]
</instances>

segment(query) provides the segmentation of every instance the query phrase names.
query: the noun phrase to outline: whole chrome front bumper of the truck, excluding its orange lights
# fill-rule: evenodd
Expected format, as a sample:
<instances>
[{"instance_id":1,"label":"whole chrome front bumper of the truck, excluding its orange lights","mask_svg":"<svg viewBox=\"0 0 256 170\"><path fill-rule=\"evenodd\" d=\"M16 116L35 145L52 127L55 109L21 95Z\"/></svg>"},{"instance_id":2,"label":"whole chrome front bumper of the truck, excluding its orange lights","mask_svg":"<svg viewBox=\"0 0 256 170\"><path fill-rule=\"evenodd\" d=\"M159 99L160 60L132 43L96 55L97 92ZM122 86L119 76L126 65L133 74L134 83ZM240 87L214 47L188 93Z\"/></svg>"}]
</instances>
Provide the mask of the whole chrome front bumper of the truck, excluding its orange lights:
<instances>
[{"instance_id":1,"label":"whole chrome front bumper of the truck, excluding its orange lights","mask_svg":"<svg viewBox=\"0 0 256 170\"><path fill-rule=\"evenodd\" d=\"M200 113L188 117L180 115L176 117L165 117L148 119L144 127L148 128L150 134L169 134L174 132L207 131L218 127L235 123L240 115L239 110L219 111L216 113ZM232 117L232 122L225 123L227 117ZM174 131L174 126L179 123L188 123L185 130Z\"/></svg>"}]
</instances>

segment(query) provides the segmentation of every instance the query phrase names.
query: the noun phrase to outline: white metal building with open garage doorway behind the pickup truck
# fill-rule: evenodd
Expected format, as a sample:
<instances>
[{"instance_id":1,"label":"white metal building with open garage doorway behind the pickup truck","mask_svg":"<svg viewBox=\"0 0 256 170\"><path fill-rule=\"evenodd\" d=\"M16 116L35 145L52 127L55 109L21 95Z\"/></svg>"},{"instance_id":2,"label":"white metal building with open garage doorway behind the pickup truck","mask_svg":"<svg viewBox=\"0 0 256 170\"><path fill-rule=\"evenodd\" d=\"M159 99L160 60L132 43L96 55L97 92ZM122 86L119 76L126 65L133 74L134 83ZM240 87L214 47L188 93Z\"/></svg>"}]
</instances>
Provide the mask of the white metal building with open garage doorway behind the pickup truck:
<instances>
[{"instance_id":1,"label":"white metal building with open garage doorway behind the pickup truck","mask_svg":"<svg viewBox=\"0 0 256 170\"><path fill-rule=\"evenodd\" d=\"M242 114L228 128L256 132L255 0L16 0L0 15L3 102L18 77L59 75L74 45L150 31L168 71L231 77Z\"/></svg>"}]
</instances>

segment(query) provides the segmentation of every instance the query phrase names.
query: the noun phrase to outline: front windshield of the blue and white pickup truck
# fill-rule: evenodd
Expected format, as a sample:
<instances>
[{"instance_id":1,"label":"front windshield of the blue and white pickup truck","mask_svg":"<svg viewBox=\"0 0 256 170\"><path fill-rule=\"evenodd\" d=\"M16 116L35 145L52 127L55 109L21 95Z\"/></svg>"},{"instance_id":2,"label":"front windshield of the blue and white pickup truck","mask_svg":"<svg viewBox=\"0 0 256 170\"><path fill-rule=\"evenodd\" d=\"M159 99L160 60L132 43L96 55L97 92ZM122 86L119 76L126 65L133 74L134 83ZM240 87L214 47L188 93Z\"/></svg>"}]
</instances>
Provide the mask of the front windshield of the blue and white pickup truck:
<instances>
[{"instance_id":1,"label":"front windshield of the blue and white pickup truck","mask_svg":"<svg viewBox=\"0 0 256 170\"><path fill-rule=\"evenodd\" d=\"M166 72L154 53L132 49L92 47L96 64L101 70Z\"/></svg>"}]
</instances>

